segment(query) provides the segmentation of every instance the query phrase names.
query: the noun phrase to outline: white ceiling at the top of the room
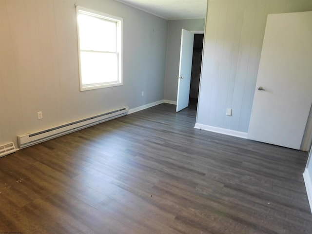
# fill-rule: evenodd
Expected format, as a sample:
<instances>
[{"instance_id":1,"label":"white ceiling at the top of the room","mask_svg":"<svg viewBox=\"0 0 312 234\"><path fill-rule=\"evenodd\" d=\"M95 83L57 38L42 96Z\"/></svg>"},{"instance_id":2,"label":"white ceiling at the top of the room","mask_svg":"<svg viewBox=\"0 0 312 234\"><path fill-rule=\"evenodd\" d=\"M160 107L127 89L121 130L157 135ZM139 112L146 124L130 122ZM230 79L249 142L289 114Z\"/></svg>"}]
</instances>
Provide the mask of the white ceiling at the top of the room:
<instances>
[{"instance_id":1,"label":"white ceiling at the top of the room","mask_svg":"<svg viewBox=\"0 0 312 234\"><path fill-rule=\"evenodd\" d=\"M117 0L165 20L206 18L207 0Z\"/></svg>"}]
</instances>

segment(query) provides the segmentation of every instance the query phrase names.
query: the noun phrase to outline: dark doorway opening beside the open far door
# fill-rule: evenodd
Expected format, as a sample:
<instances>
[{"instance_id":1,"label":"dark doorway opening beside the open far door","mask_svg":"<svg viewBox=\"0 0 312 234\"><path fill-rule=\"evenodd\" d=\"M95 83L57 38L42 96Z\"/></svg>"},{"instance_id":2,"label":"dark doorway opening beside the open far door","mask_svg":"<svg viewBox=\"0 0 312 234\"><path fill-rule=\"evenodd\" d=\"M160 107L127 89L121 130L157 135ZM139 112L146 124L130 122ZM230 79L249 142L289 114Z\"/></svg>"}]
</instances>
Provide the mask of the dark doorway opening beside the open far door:
<instances>
[{"instance_id":1,"label":"dark doorway opening beside the open far door","mask_svg":"<svg viewBox=\"0 0 312 234\"><path fill-rule=\"evenodd\" d=\"M189 108L197 109L204 34L194 34Z\"/></svg>"}]
</instances>

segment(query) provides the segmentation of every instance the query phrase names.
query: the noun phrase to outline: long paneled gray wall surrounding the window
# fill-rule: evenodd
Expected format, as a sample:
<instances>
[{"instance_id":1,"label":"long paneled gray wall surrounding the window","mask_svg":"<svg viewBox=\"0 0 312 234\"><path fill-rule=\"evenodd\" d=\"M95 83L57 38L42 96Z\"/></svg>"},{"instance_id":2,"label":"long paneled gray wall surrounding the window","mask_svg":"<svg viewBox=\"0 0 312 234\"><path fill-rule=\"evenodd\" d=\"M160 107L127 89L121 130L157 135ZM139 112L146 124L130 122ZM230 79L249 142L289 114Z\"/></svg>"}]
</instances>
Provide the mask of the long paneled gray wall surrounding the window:
<instances>
[{"instance_id":1,"label":"long paneled gray wall surrounding the window","mask_svg":"<svg viewBox=\"0 0 312 234\"><path fill-rule=\"evenodd\" d=\"M79 91L75 2L123 18L123 86ZM167 27L167 20L114 0L0 0L0 144L163 100Z\"/></svg>"}]
</instances>

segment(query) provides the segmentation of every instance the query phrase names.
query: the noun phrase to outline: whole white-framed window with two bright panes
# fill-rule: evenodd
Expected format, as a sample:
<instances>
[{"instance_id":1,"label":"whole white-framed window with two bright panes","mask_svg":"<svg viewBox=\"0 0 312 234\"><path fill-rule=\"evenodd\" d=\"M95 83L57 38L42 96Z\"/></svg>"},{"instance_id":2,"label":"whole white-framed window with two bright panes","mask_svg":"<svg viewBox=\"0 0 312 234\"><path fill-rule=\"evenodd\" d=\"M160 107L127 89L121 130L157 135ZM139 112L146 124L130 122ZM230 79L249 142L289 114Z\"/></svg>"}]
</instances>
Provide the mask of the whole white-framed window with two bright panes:
<instances>
[{"instance_id":1,"label":"whole white-framed window with two bright panes","mask_svg":"<svg viewBox=\"0 0 312 234\"><path fill-rule=\"evenodd\" d=\"M122 85L122 19L77 6L80 91Z\"/></svg>"}]
</instances>

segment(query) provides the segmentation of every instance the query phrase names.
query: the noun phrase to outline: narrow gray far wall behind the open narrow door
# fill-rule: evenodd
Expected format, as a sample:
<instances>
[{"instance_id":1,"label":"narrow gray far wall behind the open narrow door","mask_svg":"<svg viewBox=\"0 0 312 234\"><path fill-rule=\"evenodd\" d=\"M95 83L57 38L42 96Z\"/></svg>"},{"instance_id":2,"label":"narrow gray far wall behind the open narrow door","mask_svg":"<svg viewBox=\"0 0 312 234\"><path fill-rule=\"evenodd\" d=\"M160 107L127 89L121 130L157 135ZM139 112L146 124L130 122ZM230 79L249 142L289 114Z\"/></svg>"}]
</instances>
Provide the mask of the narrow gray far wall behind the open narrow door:
<instances>
[{"instance_id":1,"label":"narrow gray far wall behind the open narrow door","mask_svg":"<svg viewBox=\"0 0 312 234\"><path fill-rule=\"evenodd\" d=\"M167 44L167 66L165 98L176 101L177 76L179 73L181 31L204 31L205 19L195 20L169 20L168 23L168 44Z\"/></svg>"}]
</instances>

